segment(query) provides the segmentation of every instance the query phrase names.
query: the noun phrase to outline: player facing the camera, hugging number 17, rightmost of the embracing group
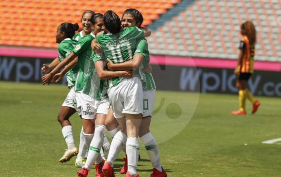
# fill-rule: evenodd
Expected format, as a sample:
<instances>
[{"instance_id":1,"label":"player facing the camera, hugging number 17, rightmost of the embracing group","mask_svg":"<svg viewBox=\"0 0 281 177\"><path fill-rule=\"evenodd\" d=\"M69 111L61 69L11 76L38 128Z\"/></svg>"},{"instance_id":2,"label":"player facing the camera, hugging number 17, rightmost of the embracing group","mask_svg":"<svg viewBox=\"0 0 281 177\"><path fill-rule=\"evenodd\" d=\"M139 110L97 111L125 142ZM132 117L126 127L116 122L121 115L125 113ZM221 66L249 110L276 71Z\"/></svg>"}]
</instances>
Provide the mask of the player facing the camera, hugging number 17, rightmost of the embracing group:
<instances>
[{"instance_id":1,"label":"player facing the camera, hugging number 17, rightmost of the embracing group","mask_svg":"<svg viewBox=\"0 0 281 177\"><path fill-rule=\"evenodd\" d=\"M125 10L122 16L122 25L124 27L140 27L143 21L141 13L136 9ZM153 166L153 173L151 177L166 177L165 170L161 167L159 152L156 141L150 133L149 127L153 112L153 106L155 101L155 82L151 73L145 73L142 71L144 67L149 64L149 51L145 38L140 38L137 41L137 49L134 53L133 60L129 60L120 64L113 64L111 61L108 63L109 70L125 70L125 69L138 69L140 73L140 79L142 82L143 90L143 118L141 121L139 137L142 143L145 145L150 161ZM111 150L111 149L110 149ZM111 152L109 152L109 155ZM109 157L111 158L111 157ZM109 159L110 161L110 159ZM125 158L125 164L122 167L120 173L125 174L127 172L127 157Z\"/></svg>"}]
</instances>

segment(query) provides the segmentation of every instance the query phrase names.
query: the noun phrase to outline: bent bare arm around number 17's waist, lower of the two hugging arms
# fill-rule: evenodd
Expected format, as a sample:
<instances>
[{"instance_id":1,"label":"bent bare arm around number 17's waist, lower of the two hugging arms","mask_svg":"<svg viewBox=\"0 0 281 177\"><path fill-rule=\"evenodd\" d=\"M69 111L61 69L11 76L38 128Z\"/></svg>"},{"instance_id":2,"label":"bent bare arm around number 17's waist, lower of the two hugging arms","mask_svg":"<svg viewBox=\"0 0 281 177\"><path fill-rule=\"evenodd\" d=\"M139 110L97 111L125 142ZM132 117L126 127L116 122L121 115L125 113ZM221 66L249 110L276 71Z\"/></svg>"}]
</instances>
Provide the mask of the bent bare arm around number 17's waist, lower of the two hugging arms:
<instances>
[{"instance_id":1,"label":"bent bare arm around number 17's waist, lower of the two hugging arms","mask_svg":"<svg viewBox=\"0 0 281 177\"><path fill-rule=\"evenodd\" d=\"M112 79L118 77L132 78L132 71L106 71L104 70L104 62L99 60L94 63L97 75L100 79Z\"/></svg>"}]
</instances>

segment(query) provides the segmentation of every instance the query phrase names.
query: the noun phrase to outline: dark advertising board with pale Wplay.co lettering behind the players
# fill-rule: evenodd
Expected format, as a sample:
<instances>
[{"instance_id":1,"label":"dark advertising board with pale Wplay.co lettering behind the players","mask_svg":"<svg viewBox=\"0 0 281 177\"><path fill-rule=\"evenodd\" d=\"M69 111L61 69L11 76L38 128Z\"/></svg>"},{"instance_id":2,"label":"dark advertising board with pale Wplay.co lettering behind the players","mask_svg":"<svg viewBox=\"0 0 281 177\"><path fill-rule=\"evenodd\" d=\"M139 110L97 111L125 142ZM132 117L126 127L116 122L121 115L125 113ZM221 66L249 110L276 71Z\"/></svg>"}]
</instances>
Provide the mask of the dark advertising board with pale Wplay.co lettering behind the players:
<instances>
[{"instance_id":1,"label":"dark advertising board with pale Wplay.co lettering behind the players","mask_svg":"<svg viewBox=\"0 0 281 177\"><path fill-rule=\"evenodd\" d=\"M0 80L41 81L41 66L52 59L0 57ZM236 94L233 69L152 65L158 90ZM66 80L62 80L65 84ZM254 95L281 97L281 72L255 71L248 82Z\"/></svg>"}]
</instances>

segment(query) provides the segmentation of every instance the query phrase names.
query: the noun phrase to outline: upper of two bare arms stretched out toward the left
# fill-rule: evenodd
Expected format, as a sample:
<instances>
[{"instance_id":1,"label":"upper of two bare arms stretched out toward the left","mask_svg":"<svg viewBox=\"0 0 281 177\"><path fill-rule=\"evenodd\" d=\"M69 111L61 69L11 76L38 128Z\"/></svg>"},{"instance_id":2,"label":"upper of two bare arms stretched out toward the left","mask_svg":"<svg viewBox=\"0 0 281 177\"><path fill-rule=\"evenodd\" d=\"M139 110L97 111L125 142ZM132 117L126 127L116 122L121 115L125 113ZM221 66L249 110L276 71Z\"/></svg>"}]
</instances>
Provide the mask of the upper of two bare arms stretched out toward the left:
<instances>
[{"instance_id":1,"label":"upper of two bare arms stretched out toward the left","mask_svg":"<svg viewBox=\"0 0 281 177\"><path fill-rule=\"evenodd\" d=\"M49 72L47 75L43 76L41 78L43 85L46 83L50 84L53 76L59 72L64 66L69 64L71 61L73 61L77 55L74 52L71 52L65 59L62 60L51 72Z\"/></svg>"}]
</instances>

